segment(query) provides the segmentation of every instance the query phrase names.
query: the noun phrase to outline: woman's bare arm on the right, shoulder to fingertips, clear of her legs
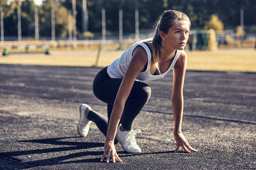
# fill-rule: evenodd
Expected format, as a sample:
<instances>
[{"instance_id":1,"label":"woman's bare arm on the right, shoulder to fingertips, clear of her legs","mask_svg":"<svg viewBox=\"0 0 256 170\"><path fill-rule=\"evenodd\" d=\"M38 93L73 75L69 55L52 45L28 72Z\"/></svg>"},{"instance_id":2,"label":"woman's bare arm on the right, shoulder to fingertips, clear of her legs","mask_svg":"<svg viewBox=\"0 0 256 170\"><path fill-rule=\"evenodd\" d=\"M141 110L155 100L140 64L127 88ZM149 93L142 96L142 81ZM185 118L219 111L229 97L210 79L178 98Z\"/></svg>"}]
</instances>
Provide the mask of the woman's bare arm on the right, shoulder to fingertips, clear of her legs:
<instances>
[{"instance_id":1,"label":"woman's bare arm on the right, shoulder to fingertips, clear of her legs","mask_svg":"<svg viewBox=\"0 0 256 170\"><path fill-rule=\"evenodd\" d=\"M172 91L172 112L174 113L174 137L177 142L176 151L182 147L186 152L197 152L197 150L193 149L187 139L185 139L184 135L181 132L181 124L183 117L183 85L184 85L184 77L185 70L187 67L187 55L183 51L181 51L179 59L174 67L174 89Z\"/></svg>"}]
</instances>

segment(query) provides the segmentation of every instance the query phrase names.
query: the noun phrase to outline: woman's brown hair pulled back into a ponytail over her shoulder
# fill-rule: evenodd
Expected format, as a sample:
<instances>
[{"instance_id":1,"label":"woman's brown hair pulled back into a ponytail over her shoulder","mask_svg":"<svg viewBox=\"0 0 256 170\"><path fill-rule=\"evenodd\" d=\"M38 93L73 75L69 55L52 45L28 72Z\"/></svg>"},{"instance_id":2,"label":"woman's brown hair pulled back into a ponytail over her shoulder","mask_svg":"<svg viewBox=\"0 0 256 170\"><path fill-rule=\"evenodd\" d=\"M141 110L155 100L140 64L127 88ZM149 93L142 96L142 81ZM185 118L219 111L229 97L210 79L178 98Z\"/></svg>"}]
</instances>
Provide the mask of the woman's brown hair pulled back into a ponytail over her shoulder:
<instances>
[{"instance_id":1,"label":"woman's brown hair pulled back into a ponytail over her shoulder","mask_svg":"<svg viewBox=\"0 0 256 170\"><path fill-rule=\"evenodd\" d=\"M175 10L167 10L160 16L154 32L154 37L152 39L152 57L151 61L155 63L154 68L152 68L151 72L154 72L156 69L159 71L159 56L163 52L162 48L162 38L160 36L160 32L168 33L169 29L177 24L179 20L188 20L189 27L191 26L191 22L186 14L180 11Z\"/></svg>"}]
</instances>

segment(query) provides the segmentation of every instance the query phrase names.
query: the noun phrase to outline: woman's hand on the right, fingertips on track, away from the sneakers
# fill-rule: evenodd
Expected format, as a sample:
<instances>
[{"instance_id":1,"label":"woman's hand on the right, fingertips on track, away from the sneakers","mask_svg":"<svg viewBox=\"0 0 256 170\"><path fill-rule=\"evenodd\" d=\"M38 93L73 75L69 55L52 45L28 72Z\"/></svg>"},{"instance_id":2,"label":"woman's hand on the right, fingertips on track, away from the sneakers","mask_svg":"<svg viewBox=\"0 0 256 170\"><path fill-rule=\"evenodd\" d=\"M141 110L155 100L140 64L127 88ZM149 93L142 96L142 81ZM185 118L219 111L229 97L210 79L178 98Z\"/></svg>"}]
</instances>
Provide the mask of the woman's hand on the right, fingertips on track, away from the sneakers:
<instances>
[{"instance_id":1,"label":"woman's hand on the right, fingertips on track, away from the sneakers","mask_svg":"<svg viewBox=\"0 0 256 170\"><path fill-rule=\"evenodd\" d=\"M185 139L182 133L174 134L174 137L175 137L175 141L177 142L177 147L175 151L178 151L180 147L182 147L185 152L188 152L188 153L191 153L191 151L197 152L197 150L195 150L189 145L187 139Z\"/></svg>"}]
</instances>

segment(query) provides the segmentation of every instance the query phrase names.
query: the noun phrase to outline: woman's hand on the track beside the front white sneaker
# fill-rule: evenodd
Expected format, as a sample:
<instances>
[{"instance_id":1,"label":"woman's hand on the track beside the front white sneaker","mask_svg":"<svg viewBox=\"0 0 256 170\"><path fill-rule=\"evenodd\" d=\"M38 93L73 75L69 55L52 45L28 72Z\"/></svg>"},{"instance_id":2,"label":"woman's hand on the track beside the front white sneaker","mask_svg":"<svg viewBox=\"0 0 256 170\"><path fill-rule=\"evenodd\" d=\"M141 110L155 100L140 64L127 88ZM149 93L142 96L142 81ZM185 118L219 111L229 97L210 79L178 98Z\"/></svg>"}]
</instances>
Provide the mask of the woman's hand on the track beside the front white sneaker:
<instances>
[{"instance_id":1,"label":"woman's hand on the track beside the front white sneaker","mask_svg":"<svg viewBox=\"0 0 256 170\"><path fill-rule=\"evenodd\" d=\"M108 141L106 139L105 145L104 145L104 154L101 158L101 162L104 160L104 158L107 156L106 163L109 163L109 159L111 158L113 163L115 163L115 159L118 160L118 162L122 162L122 160L117 155L117 151L115 151L114 141Z\"/></svg>"}]
</instances>

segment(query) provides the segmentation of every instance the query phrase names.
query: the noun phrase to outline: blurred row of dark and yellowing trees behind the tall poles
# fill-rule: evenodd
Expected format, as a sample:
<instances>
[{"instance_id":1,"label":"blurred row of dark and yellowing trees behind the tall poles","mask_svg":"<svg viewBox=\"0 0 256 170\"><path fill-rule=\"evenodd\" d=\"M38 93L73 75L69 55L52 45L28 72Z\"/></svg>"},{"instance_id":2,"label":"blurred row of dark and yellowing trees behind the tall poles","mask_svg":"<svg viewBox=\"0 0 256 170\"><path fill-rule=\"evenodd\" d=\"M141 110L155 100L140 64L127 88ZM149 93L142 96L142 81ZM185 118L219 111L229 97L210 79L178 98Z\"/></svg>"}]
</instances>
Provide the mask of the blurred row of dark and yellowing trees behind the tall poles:
<instances>
[{"instance_id":1,"label":"blurred row of dark and yellowing trees behind the tall poles","mask_svg":"<svg viewBox=\"0 0 256 170\"><path fill-rule=\"evenodd\" d=\"M4 10L5 36L17 36L17 10L18 0L0 0ZM22 35L34 36L34 0L22 1ZM68 32L68 10L72 10L72 0L45 0L39 7L40 36L51 36L51 8L55 8L56 36L65 37ZM240 9L243 8L245 30L250 25L256 25L255 0L87 0L89 12L88 31L101 35L101 9L106 9L107 35L118 34L118 10L123 10L123 33L135 32L135 8L139 9L139 29L150 30L164 10L183 11L191 19L191 29L225 27L236 29L240 25ZM76 0L77 35L82 32L82 0ZM212 14L216 14L213 16ZM210 26L212 20L213 25ZM215 21L214 21L215 19ZM221 20L221 21L220 21ZM207 22L205 22L207 21ZM218 23L218 24L217 24ZM218 25L217 28L216 25ZM222 25L222 26L221 26ZM253 29L251 29L253 30ZM252 31L251 31L252 32Z\"/></svg>"}]
</instances>

